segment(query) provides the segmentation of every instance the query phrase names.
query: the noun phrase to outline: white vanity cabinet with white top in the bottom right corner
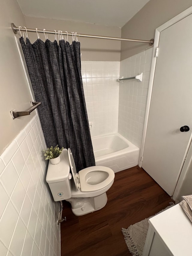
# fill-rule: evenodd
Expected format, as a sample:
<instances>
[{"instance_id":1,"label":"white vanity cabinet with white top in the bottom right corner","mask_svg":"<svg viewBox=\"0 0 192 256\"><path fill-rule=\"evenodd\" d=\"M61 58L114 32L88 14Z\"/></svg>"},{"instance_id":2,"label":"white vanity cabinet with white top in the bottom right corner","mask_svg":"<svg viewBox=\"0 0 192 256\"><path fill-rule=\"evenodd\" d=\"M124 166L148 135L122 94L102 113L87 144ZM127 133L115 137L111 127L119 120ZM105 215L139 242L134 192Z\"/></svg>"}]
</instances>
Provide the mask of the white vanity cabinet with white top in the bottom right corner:
<instances>
[{"instance_id":1,"label":"white vanity cabinet with white top in the bottom right corner","mask_svg":"<svg viewBox=\"0 0 192 256\"><path fill-rule=\"evenodd\" d=\"M192 222L177 204L149 219L143 256L191 256Z\"/></svg>"}]
</instances>

